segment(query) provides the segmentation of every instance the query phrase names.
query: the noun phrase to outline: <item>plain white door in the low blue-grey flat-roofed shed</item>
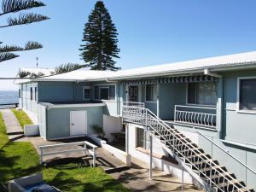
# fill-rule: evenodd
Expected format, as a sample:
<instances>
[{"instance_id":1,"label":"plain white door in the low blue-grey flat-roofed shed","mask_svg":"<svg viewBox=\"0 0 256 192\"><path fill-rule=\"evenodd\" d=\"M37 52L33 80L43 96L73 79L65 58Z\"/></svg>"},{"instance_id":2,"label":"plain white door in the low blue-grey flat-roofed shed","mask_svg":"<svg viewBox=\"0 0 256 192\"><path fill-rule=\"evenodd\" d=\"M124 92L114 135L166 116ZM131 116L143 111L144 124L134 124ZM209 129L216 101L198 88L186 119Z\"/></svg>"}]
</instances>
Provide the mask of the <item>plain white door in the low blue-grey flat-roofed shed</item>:
<instances>
[{"instance_id":1,"label":"plain white door in the low blue-grey flat-roofed shed","mask_svg":"<svg viewBox=\"0 0 256 192\"><path fill-rule=\"evenodd\" d=\"M70 136L84 135L87 132L87 111L70 112Z\"/></svg>"}]
</instances>

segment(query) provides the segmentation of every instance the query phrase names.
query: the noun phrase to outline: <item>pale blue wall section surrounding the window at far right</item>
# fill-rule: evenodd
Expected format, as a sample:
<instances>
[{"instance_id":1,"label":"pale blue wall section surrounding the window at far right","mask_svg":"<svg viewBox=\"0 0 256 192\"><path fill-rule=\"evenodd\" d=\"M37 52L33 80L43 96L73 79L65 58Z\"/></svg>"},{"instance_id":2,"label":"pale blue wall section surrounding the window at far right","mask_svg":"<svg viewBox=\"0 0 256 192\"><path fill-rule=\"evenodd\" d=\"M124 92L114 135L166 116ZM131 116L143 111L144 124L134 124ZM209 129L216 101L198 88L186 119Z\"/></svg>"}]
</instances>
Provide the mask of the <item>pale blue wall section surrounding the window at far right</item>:
<instances>
[{"instance_id":1,"label":"pale blue wall section surrounding the window at far right","mask_svg":"<svg viewBox=\"0 0 256 192\"><path fill-rule=\"evenodd\" d=\"M237 78L248 76L256 76L256 71L224 73L223 137L226 140L248 143L256 147L256 114L236 112Z\"/></svg>"}]
</instances>

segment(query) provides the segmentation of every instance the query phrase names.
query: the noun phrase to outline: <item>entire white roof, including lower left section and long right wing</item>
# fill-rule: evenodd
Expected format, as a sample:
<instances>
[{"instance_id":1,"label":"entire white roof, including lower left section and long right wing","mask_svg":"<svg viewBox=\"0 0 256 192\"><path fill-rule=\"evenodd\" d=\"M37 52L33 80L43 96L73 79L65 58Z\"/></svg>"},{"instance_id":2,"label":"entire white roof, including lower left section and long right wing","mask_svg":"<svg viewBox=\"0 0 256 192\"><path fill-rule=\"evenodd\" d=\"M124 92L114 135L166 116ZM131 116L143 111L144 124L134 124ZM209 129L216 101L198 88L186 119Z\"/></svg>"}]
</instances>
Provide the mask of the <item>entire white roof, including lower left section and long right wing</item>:
<instances>
[{"instance_id":1,"label":"entire white roof, including lower left section and long right wing","mask_svg":"<svg viewBox=\"0 0 256 192\"><path fill-rule=\"evenodd\" d=\"M140 79L164 75L203 73L204 69L209 69L210 71L229 70L230 67L256 68L256 51L235 55L216 56L192 61L173 62L150 67L139 67L120 70L118 72L95 71L83 68L70 73L63 73L40 79L32 79L32 81L99 81L107 79ZM42 71L42 73L44 72Z\"/></svg>"}]
</instances>

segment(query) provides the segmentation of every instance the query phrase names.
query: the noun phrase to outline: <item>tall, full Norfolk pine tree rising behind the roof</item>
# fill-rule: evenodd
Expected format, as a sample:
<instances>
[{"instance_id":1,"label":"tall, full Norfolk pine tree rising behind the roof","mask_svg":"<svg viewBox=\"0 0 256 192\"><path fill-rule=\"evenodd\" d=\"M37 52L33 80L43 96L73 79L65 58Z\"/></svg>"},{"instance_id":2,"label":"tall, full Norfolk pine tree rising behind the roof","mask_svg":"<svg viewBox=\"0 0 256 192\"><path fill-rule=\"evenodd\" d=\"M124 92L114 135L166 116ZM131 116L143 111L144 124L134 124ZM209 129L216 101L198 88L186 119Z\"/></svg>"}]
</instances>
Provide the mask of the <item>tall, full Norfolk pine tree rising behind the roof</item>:
<instances>
[{"instance_id":1,"label":"tall, full Norfolk pine tree rising behind the roof","mask_svg":"<svg viewBox=\"0 0 256 192\"><path fill-rule=\"evenodd\" d=\"M118 32L102 1L96 2L95 9L84 25L83 36L85 44L80 45L79 50L86 67L93 70L119 70L113 61L113 57L119 58Z\"/></svg>"}]
</instances>

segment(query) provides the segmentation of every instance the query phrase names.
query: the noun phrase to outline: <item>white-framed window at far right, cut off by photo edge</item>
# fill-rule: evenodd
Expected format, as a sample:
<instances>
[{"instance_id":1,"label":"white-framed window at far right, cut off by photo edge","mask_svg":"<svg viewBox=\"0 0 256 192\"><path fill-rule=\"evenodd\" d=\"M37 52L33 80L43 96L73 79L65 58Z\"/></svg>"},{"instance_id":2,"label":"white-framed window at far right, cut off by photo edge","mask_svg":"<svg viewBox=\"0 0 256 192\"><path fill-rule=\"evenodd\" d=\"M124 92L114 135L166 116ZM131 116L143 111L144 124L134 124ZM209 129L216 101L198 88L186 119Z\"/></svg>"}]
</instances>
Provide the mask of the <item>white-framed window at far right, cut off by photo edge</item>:
<instances>
[{"instance_id":1,"label":"white-framed window at far right, cut off by photo edge","mask_svg":"<svg viewBox=\"0 0 256 192\"><path fill-rule=\"evenodd\" d=\"M256 79L240 79L239 83L239 109L256 110Z\"/></svg>"}]
</instances>

